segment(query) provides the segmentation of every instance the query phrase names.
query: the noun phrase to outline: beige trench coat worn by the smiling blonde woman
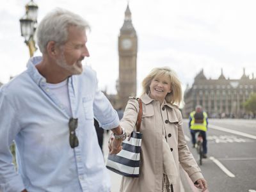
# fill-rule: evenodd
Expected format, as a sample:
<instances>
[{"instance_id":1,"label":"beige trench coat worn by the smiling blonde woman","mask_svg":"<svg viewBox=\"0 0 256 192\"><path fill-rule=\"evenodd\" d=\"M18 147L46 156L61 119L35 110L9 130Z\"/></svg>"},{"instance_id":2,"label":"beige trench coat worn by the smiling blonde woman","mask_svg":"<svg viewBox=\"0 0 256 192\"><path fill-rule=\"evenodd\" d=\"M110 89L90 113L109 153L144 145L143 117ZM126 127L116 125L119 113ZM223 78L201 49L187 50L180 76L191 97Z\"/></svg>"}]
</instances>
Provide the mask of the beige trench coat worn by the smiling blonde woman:
<instances>
[{"instance_id":1,"label":"beige trench coat worn by the smiling blonde woman","mask_svg":"<svg viewBox=\"0 0 256 192\"><path fill-rule=\"evenodd\" d=\"M141 142L140 177L123 177L120 191L122 192L158 192L163 184L163 129L166 139L179 172L179 163L188 173L193 182L203 178L192 154L189 152L182 128L182 115L172 104L160 106L159 101L150 99L147 94L141 97L143 115L140 132ZM125 108L120 125L129 135L133 130L138 115L139 104L130 99ZM163 118L162 118L163 116ZM164 124L164 126L163 126ZM177 173L179 175L179 173ZM175 192L180 191L180 175L173 185Z\"/></svg>"}]
</instances>

